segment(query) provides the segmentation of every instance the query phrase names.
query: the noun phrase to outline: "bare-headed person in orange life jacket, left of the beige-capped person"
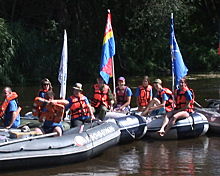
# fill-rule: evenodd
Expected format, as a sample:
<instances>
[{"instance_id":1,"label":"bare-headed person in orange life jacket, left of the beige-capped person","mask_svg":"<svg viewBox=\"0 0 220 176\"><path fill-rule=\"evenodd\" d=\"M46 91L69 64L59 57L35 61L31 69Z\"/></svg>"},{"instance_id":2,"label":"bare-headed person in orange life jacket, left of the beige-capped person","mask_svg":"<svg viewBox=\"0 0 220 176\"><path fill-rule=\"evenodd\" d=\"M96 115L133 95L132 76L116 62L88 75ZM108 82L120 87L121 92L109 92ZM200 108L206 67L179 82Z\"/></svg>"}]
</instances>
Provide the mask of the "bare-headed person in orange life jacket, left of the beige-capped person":
<instances>
[{"instance_id":1,"label":"bare-headed person in orange life jacket, left of the beige-capped person","mask_svg":"<svg viewBox=\"0 0 220 176\"><path fill-rule=\"evenodd\" d=\"M149 102L152 100L153 87L149 84L150 79L148 76L144 76L142 79L142 84L136 89L136 103L138 111L143 112L147 108Z\"/></svg>"}]
</instances>

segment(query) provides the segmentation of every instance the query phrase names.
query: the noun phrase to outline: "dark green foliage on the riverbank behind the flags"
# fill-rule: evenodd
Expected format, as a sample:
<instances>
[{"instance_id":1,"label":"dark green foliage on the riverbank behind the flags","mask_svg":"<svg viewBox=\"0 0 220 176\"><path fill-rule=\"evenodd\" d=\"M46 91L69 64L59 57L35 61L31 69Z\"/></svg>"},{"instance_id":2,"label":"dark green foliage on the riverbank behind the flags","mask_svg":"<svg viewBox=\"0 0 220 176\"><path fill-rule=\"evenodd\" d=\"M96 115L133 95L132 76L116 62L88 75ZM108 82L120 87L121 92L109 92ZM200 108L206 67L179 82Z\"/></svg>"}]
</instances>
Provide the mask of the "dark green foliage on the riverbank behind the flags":
<instances>
[{"instance_id":1,"label":"dark green foliage on the riverbank behind the flags","mask_svg":"<svg viewBox=\"0 0 220 176\"><path fill-rule=\"evenodd\" d=\"M57 81L64 29L69 82L93 79L99 72L108 8L116 76L170 69L171 13L190 72L219 71L218 5L215 0L0 1L0 83L43 77Z\"/></svg>"}]
</instances>

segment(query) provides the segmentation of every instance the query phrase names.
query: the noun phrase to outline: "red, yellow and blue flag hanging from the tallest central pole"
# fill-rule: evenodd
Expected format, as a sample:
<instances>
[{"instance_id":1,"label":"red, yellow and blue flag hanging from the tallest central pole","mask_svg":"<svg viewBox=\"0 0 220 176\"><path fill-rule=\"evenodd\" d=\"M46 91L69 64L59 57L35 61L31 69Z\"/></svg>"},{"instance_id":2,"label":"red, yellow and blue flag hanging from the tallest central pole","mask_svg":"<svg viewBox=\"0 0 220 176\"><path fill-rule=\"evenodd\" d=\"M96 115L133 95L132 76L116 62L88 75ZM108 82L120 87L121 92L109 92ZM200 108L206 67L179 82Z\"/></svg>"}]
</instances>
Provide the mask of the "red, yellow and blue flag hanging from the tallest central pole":
<instances>
[{"instance_id":1,"label":"red, yellow and blue flag hanging from the tallest central pole","mask_svg":"<svg viewBox=\"0 0 220 176\"><path fill-rule=\"evenodd\" d=\"M107 23L105 27L105 34L102 45L101 64L100 64L100 76L103 78L106 84L109 82L109 78L112 77L112 59L115 55L115 39L113 36L113 30L111 25L111 13L108 10Z\"/></svg>"}]
</instances>

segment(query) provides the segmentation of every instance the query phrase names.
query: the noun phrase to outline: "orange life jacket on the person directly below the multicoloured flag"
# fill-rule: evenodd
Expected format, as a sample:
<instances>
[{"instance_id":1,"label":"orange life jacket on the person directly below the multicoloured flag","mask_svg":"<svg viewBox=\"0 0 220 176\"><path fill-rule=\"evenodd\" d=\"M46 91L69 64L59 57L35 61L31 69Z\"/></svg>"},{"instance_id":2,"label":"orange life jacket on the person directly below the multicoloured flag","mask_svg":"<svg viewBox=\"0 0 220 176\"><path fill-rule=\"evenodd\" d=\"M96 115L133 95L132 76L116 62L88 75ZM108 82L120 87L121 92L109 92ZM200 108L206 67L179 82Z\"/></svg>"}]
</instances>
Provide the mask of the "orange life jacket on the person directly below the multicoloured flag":
<instances>
[{"instance_id":1,"label":"orange life jacket on the person directly below the multicoloured flag","mask_svg":"<svg viewBox=\"0 0 220 176\"><path fill-rule=\"evenodd\" d=\"M98 107L102 103L105 107L108 107L108 90L109 86L104 84L103 91L100 90L99 85L94 85L94 96L91 102L93 107Z\"/></svg>"}]
</instances>

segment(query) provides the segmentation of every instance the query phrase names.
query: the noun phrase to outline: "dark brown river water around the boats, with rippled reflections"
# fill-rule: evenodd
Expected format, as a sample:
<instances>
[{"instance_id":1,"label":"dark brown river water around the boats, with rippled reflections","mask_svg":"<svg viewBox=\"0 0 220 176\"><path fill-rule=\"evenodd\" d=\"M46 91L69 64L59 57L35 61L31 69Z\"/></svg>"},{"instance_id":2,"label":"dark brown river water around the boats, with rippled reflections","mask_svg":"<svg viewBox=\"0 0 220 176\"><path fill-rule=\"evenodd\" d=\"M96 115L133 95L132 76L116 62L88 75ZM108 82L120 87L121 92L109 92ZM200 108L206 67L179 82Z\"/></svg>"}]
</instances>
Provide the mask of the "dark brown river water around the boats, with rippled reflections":
<instances>
[{"instance_id":1,"label":"dark brown river water around the boats, with rippled reflections","mask_svg":"<svg viewBox=\"0 0 220 176\"><path fill-rule=\"evenodd\" d=\"M171 78L162 77L163 86L171 88ZM220 98L220 75L199 74L187 76L188 85L194 89L196 101L203 107L205 99ZM127 85L135 88L141 83L140 77L126 79ZM86 94L92 84L83 84ZM68 86L67 96L71 94ZM0 87L3 88L3 87ZM31 110L39 85L12 86L19 94L22 115ZM58 95L59 86L54 86ZM135 98L132 99L135 106ZM220 134L208 133L195 139L187 140L153 140L142 138L129 144L117 145L103 154L78 164L67 164L50 168L26 168L13 171L7 176L51 175L51 176L124 176L124 175L220 175Z\"/></svg>"}]
</instances>

